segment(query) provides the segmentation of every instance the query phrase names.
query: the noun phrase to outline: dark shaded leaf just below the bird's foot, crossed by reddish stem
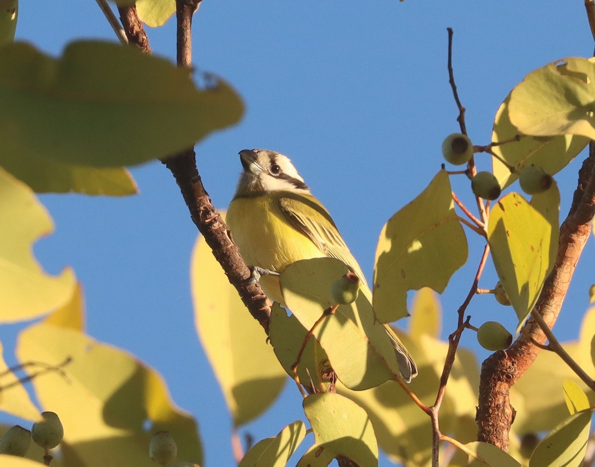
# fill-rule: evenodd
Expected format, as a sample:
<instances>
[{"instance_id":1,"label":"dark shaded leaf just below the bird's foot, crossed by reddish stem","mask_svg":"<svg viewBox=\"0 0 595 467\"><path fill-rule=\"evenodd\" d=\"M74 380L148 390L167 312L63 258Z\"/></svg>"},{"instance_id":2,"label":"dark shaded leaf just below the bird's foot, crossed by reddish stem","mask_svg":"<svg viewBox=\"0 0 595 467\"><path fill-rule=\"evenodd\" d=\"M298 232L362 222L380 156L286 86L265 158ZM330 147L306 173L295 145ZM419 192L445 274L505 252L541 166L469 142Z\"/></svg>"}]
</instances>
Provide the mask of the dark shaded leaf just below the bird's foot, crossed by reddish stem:
<instances>
[{"instance_id":1,"label":"dark shaded leaf just below the bird's foot, crossed by reddish stem","mask_svg":"<svg viewBox=\"0 0 595 467\"><path fill-rule=\"evenodd\" d=\"M275 355L286 373L293 378L292 365L297 359L303 340L308 334L306 328L297 321L295 315L287 316L287 312L275 302L271 311L269 339L273 344ZM310 381L317 392L327 391L328 381L322 379L328 366L328 356L318 341L311 337L302 353L297 375L306 386Z\"/></svg>"}]
</instances>

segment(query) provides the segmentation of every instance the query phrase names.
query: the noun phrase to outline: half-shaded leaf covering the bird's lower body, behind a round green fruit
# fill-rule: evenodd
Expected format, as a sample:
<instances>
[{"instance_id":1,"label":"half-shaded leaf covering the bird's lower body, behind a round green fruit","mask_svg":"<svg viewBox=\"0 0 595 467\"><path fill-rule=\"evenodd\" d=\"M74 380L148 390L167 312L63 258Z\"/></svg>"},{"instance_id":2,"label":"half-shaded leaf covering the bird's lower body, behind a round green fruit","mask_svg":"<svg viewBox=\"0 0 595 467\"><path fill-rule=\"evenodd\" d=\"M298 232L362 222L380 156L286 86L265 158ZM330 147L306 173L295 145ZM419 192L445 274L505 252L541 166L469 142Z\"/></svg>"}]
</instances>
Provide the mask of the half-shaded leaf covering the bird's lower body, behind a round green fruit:
<instances>
[{"instance_id":1,"label":"half-shaded leaf covering the bird's lower body, behind a round green fruit","mask_svg":"<svg viewBox=\"0 0 595 467\"><path fill-rule=\"evenodd\" d=\"M287 307L310 330L333 305L331 284L345 275L345 263L335 258L297 261L281 272L281 292ZM339 380L361 390L399 375L394 349L384 326L364 293L324 318L314 336L328 355Z\"/></svg>"}]
</instances>

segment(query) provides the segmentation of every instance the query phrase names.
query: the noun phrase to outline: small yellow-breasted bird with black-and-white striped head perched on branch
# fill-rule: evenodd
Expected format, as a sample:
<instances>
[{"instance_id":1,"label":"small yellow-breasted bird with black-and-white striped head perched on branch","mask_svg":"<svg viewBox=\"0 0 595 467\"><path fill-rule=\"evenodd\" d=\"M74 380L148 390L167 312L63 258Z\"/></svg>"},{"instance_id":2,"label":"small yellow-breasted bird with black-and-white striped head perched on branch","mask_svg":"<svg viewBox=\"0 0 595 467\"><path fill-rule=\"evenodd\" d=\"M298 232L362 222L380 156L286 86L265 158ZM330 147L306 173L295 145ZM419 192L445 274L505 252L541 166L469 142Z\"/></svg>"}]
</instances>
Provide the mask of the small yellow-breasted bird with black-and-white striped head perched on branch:
<instances>
[{"instance_id":1,"label":"small yellow-breasted bird with black-and-white striped head perched on branch","mask_svg":"<svg viewBox=\"0 0 595 467\"><path fill-rule=\"evenodd\" d=\"M227 210L231 237L269 299L283 305L278 274L301 259L337 258L358 276L368 297L364 273L327 209L312 195L290 159L268 149L239 152L243 171ZM265 274L258 274L264 272ZM403 379L417 376L411 354L388 324Z\"/></svg>"}]
</instances>

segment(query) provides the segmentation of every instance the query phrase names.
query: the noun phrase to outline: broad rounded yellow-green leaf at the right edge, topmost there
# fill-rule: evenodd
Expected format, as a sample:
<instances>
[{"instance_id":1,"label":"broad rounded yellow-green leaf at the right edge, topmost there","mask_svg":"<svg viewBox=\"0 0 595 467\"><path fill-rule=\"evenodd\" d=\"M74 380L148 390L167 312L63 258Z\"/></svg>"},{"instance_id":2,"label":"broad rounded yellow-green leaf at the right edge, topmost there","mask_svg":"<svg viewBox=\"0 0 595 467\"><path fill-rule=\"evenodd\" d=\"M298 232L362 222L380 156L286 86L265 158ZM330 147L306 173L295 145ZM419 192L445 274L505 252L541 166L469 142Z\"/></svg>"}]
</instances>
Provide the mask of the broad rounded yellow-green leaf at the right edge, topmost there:
<instances>
[{"instance_id":1,"label":"broad rounded yellow-green leaf at the right edge, topmost there","mask_svg":"<svg viewBox=\"0 0 595 467\"><path fill-rule=\"evenodd\" d=\"M595 139L595 62L570 57L529 73L511 92L511 123L522 134Z\"/></svg>"}]
</instances>

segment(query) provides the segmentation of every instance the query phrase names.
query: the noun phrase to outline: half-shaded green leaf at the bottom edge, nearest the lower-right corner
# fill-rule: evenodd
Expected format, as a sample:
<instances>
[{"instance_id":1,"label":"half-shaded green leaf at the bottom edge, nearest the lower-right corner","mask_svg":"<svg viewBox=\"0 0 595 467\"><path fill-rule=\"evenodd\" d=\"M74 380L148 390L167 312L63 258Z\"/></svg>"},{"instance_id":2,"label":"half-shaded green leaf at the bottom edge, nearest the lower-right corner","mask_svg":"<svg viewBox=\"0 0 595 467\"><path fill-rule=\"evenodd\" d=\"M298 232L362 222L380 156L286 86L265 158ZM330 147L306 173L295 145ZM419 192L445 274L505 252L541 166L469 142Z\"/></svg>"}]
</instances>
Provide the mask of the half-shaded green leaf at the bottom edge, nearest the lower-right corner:
<instances>
[{"instance_id":1,"label":"half-shaded green leaf at the bottom edge, nearest the lower-right corner","mask_svg":"<svg viewBox=\"0 0 595 467\"><path fill-rule=\"evenodd\" d=\"M580 467L583 465L591 427L591 410L581 410L563 420L537 445L529 467Z\"/></svg>"}]
</instances>

